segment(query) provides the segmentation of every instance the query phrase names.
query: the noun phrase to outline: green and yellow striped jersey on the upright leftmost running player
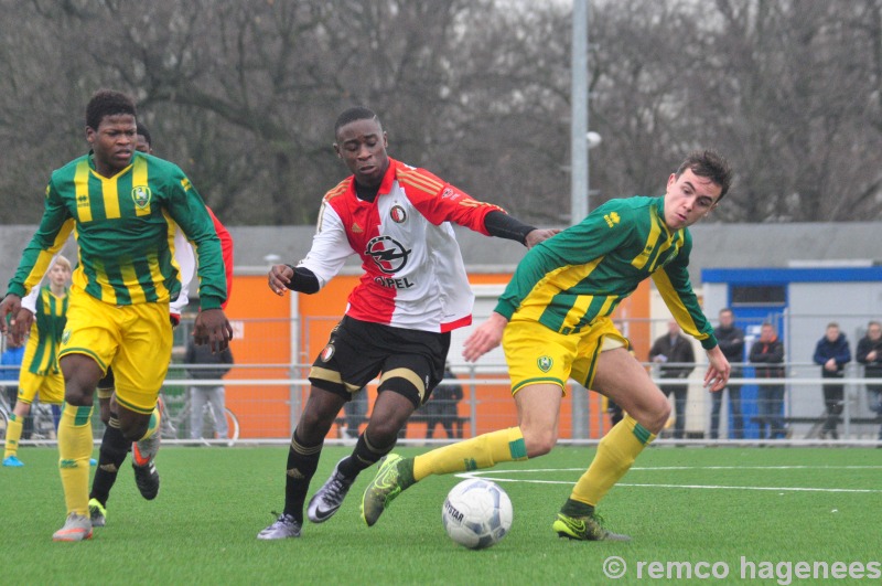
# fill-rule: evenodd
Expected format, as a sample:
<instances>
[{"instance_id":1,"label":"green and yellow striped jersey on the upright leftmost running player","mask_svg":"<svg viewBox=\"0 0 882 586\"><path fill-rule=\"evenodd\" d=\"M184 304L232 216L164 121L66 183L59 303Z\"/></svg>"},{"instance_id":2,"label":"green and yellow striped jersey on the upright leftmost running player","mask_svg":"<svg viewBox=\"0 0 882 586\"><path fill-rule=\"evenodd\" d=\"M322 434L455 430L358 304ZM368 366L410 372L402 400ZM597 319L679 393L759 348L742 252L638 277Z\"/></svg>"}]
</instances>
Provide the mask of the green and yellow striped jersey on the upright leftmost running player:
<instances>
[{"instance_id":1,"label":"green and yellow striped jersey on the upright leftmost running player","mask_svg":"<svg viewBox=\"0 0 882 586\"><path fill-rule=\"evenodd\" d=\"M106 178L90 153L83 156L52 173L43 219L9 292L23 297L36 286L74 231L79 246L74 287L119 306L174 300L181 290L175 223L196 247L202 308L219 308L227 297L220 241L184 172L136 152L131 164Z\"/></svg>"}]
</instances>

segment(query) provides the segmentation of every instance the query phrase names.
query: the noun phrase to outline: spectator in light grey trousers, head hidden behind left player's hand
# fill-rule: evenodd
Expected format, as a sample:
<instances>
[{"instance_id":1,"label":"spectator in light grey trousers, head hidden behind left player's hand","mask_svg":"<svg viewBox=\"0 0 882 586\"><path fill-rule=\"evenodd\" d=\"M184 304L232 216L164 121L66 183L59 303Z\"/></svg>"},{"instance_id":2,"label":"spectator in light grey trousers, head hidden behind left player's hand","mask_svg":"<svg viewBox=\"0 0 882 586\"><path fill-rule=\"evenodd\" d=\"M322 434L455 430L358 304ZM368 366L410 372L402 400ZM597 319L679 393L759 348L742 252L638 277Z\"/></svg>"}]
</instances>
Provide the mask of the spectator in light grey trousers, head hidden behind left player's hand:
<instances>
[{"instance_id":1,"label":"spectator in light grey trousers, head hidden behind left player's hand","mask_svg":"<svg viewBox=\"0 0 882 586\"><path fill-rule=\"evenodd\" d=\"M207 344L196 345L191 338L186 344L184 363L218 365L216 369L187 369L186 372L191 379L223 379L233 367L233 351L227 347L220 352L212 352L212 347ZM202 439L202 412L206 403L212 405L214 429L217 433L217 437L226 437L229 428L224 413L224 407L226 406L224 386L212 385L190 387L190 438Z\"/></svg>"}]
</instances>

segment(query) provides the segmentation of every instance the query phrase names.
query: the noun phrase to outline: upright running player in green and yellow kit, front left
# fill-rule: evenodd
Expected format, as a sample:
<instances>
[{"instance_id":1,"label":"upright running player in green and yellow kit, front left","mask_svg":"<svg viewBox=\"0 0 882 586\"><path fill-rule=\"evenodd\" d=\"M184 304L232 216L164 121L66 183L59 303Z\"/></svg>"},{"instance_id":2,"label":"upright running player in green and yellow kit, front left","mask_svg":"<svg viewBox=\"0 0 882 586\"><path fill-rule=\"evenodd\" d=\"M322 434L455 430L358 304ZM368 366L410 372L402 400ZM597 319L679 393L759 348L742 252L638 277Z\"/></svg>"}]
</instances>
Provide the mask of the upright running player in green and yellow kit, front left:
<instances>
[{"instance_id":1,"label":"upright running player in green and yellow kit, front left","mask_svg":"<svg viewBox=\"0 0 882 586\"><path fill-rule=\"evenodd\" d=\"M205 204L175 164L136 151L136 131L131 98L106 89L92 97L86 107L92 151L52 173L40 227L0 302L6 331L6 316L18 315L21 297L74 232L79 257L58 354L65 379L58 468L68 515L53 535L56 541L92 537L90 414L93 393L108 366L126 438L147 439L158 427L154 409L172 347L169 302L181 288L174 224L198 257L196 343L220 351L233 333L220 309L227 297L220 243ZM11 324L13 337L21 337Z\"/></svg>"}]
</instances>

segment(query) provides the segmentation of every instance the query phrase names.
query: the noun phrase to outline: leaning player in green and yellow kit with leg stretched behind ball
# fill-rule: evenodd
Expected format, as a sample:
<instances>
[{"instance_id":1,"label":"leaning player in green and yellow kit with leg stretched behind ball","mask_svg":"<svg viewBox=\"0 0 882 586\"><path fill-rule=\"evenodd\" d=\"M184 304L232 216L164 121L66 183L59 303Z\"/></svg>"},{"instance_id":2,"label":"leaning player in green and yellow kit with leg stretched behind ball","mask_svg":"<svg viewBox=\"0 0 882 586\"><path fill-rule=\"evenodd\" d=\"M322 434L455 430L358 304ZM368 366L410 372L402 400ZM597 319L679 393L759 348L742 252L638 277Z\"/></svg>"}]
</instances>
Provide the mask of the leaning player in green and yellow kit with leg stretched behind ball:
<instances>
[{"instance_id":1,"label":"leaning player in green and yellow kit with leg stretched behind ball","mask_svg":"<svg viewBox=\"0 0 882 586\"><path fill-rule=\"evenodd\" d=\"M388 457L365 491L365 522L376 523L394 498L428 476L548 454L557 441L561 397L572 377L627 415L601 440L552 529L574 540L627 540L603 529L594 508L664 427L670 406L627 352L628 342L610 315L641 281L652 278L681 329L707 350L706 386L714 392L725 386L729 362L689 284L692 241L687 228L717 206L731 178L729 163L717 152L692 152L668 178L664 196L612 200L581 224L530 249L463 351L466 360L475 361L502 342L518 426L416 458Z\"/></svg>"}]
</instances>

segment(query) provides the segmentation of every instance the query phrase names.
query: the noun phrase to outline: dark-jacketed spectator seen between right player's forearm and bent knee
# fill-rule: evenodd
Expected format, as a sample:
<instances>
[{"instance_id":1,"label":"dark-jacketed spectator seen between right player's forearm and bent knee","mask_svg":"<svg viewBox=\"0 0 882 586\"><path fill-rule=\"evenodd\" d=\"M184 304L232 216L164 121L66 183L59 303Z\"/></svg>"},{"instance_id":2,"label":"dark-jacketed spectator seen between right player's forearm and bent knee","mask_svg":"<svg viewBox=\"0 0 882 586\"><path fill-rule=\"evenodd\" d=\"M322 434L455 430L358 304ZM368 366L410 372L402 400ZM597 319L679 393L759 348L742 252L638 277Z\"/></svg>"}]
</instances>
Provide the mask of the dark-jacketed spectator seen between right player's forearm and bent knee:
<instances>
[{"instance_id":1,"label":"dark-jacketed spectator seen between right player's forearm and bent knee","mask_svg":"<svg viewBox=\"0 0 882 586\"><path fill-rule=\"evenodd\" d=\"M721 347L722 349L722 347ZM692 343L680 333L675 320L668 321L668 333L657 338L649 349L649 361L659 364L662 379L682 379L684 381L696 367L696 354ZM688 384L663 384L665 396L674 394L674 438L682 439L686 435L686 395Z\"/></svg>"}]
</instances>

